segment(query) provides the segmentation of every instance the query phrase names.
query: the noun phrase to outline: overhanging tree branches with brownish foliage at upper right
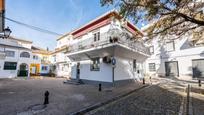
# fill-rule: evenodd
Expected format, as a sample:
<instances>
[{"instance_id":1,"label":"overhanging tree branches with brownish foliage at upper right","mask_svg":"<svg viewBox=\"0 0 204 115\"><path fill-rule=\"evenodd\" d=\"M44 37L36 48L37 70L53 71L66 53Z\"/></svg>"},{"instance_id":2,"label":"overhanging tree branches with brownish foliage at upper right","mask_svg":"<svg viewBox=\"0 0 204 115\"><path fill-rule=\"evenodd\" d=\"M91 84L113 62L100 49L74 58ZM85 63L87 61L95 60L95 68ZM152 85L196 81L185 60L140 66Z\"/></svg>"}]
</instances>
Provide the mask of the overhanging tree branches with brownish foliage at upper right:
<instances>
[{"instance_id":1,"label":"overhanging tree branches with brownish foliage at upper right","mask_svg":"<svg viewBox=\"0 0 204 115\"><path fill-rule=\"evenodd\" d=\"M193 31L196 38L204 39L201 0L101 0L101 5L116 5L123 17L135 23L149 22L146 33L150 38L166 34L180 36Z\"/></svg>"}]
</instances>

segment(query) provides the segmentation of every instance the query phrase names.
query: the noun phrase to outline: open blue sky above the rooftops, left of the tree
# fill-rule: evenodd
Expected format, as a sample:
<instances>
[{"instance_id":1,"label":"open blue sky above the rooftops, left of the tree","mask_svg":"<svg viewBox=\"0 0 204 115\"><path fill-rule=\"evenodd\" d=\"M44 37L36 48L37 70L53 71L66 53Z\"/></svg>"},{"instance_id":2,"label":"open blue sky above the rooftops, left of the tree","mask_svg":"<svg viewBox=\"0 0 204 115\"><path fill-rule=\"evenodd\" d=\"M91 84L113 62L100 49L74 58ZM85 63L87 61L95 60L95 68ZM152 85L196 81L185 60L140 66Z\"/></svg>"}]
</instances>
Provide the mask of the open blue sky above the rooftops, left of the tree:
<instances>
[{"instance_id":1,"label":"open blue sky above the rooftops, left of the tree","mask_svg":"<svg viewBox=\"0 0 204 115\"><path fill-rule=\"evenodd\" d=\"M100 0L6 0L6 17L65 34L113 7L101 7ZM11 35L33 41L42 48L56 47L59 36L38 32L6 20Z\"/></svg>"}]
</instances>

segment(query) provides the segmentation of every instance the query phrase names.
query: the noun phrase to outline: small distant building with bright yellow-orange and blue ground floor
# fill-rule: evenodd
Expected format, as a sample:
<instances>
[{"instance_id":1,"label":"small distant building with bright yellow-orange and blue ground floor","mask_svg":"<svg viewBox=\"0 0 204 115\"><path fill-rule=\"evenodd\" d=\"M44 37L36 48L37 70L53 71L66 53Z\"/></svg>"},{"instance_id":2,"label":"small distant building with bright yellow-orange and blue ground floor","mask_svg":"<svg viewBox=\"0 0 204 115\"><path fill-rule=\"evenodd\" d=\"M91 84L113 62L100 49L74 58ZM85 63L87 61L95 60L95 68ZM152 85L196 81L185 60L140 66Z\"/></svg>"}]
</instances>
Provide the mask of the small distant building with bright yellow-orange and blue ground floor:
<instances>
[{"instance_id":1,"label":"small distant building with bright yellow-orange and blue ground floor","mask_svg":"<svg viewBox=\"0 0 204 115\"><path fill-rule=\"evenodd\" d=\"M31 75L49 75L51 71L51 52L36 46L32 46L31 49L33 54L33 60L30 64Z\"/></svg>"}]
</instances>

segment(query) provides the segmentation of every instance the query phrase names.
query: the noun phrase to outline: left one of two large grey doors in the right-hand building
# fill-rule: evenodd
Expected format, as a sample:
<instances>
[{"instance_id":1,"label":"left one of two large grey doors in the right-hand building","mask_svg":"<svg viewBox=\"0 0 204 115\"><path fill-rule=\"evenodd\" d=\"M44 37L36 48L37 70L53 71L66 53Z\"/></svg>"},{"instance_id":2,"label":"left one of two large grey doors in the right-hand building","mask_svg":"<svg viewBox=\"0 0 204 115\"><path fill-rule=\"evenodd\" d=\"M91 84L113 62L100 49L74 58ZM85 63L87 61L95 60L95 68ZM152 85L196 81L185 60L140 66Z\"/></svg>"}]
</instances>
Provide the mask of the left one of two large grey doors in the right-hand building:
<instances>
[{"instance_id":1,"label":"left one of two large grey doors in the right-hand building","mask_svg":"<svg viewBox=\"0 0 204 115\"><path fill-rule=\"evenodd\" d=\"M165 62L166 76L179 76L178 62L169 61Z\"/></svg>"}]
</instances>

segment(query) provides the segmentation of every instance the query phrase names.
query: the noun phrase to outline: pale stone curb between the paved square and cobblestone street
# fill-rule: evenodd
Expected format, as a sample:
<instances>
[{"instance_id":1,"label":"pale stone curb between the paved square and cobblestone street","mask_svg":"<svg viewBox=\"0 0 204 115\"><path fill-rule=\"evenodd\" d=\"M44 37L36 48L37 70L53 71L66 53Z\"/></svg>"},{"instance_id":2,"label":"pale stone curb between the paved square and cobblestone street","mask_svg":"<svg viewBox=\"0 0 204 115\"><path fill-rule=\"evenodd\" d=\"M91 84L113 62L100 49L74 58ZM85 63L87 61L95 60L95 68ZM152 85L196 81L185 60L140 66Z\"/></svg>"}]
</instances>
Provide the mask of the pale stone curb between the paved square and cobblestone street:
<instances>
[{"instance_id":1,"label":"pale stone curb between the paved square and cobblestone street","mask_svg":"<svg viewBox=\"0 0 204 115\"><path fill-rule=\"evenodd\" d=\"M87 113L87 112L90 112L90 111L92 111L92 110L94 110L94 109L97 109L97 108L99 108L99 107L101 107L101 106L107 105L107 104L109 104L109 103L112 103L112 102L114 102L114 101L120 99L120 98L123 98L123 97L125 97L125 96L128 96L128 95L130 95L131 93L134 93L135 91L139 91L139 90L141 90L141 89L143 89L143 88L146 88L147 86L150 86L150 85L144 85L144 86L142 86L142 87L140 87L140 88L134 89L134 90L129 91L129 92L125 93L125 94L121 94L121 95L119 95L119 96L113 97L112 99L109 99L109 100L104 101L104 102L96 103L96 104L94 104L94 105L92 105L92 106L86 107L86 108L84 108L84 109L81 109L81 110L76 111L76 112L73 112L73 113L69 113L69 114L67 114L67 115L83 115L83 114L85 114L85 113Z\"/></svg>"}]
</instances>

